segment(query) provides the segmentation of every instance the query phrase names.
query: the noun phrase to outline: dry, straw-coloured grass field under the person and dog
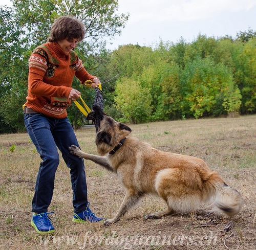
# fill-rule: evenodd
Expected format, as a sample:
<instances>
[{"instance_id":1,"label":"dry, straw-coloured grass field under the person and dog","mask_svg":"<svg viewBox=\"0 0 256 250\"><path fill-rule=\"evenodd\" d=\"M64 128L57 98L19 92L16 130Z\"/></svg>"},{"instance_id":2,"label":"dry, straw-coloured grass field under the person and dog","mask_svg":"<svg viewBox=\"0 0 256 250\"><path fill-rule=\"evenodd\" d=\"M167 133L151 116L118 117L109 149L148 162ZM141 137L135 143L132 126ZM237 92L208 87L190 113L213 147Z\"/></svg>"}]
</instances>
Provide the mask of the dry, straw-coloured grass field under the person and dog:
<instances>
[{"instance_id":1,"label":"dry, straw-coloured grass field under the person and dog","mask_svg":"<svg viewBox=\"0 0 256 250\"><path fill-rule=\"evenodd\" d=\"M72 222L72 189L63 160L56 172L49 211L56 233L42 236L30 225L31 200L40 157L27 133L0 135L0 249L256 249L256 116L155 122L131 125L132 135L168 152L202 158L225 182L242 193L242 212L228 220L190 214L144 220L165 203L146 196L110 226ZM76 130L83 151L97 154L95 128ZM86 162L90 208L112 218L124 190L117 177Z\"/></svg>"}]
</instances>

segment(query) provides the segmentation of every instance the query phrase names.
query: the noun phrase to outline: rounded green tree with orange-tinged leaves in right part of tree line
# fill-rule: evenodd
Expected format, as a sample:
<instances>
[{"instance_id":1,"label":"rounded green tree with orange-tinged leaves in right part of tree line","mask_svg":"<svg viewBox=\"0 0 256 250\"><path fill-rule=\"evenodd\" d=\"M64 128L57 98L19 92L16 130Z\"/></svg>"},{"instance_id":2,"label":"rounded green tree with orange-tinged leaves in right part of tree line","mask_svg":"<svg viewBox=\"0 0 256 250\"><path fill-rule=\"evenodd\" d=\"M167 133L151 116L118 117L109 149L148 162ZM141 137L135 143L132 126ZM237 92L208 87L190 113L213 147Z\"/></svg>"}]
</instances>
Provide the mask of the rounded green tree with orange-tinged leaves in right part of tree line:
<instances>
[{"instance_id":1,"label":"rounded green tree with orange-tinged leaves in right part of tree line","mask_svg":"<svg viewBox=\"0 0 256 250\"><path fill-rule=\"evenodd\" d=\"M222 63L215 64L210 57L197 59L182 72L182 108L184 115L195 118L238 112L241 95L232 72Z\"/></svg>"}]
</instances>

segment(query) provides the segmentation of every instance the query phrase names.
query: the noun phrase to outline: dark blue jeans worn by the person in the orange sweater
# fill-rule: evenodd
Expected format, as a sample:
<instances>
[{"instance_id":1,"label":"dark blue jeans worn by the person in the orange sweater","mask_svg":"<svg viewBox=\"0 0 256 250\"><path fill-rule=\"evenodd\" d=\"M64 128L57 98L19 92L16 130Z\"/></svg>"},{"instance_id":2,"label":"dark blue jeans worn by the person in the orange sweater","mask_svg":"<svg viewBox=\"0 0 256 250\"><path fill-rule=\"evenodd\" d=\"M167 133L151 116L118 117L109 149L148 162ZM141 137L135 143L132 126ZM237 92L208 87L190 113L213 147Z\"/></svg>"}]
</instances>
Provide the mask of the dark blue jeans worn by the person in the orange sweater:
<instances>
[{"instance_id":1,"label":"dark blue jeans worn by the person in the orange sweater","mask_svg":"<svg viewBox=\"0 0 256 250\"><path fill-rule=\"evenodd\" d=\"M24 122L30 139L42 159L36 178L32 211L47 212L50 206L55 172L59 165L57 147L70 168L74 212L86 210L88 202L86 172L83 159L69 153L72 144L77 147L79 145L68 118L55 119L41 113L31 113L25 115Z\"/></svg>"}]
</instances>

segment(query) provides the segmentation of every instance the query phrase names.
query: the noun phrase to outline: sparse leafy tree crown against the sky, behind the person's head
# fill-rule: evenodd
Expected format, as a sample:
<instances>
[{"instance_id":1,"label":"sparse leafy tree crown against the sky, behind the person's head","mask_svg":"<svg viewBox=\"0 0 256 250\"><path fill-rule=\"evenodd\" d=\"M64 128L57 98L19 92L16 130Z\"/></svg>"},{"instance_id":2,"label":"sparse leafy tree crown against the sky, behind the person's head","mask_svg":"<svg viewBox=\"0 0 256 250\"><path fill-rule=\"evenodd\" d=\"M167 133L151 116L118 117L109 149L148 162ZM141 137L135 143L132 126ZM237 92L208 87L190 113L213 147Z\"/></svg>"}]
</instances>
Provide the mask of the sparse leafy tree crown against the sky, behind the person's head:
<instances>
[{"instance_id":1,"label":"sparse leafy tree crown against the sky, behind the person's head","mask_svg":"<svg viewBox=\"0 0 256 250\"><path fill-rule=\"evenodd\" d=\"M76 16L86 26L86 39L80 48L91 48L90 41L104 41L120 34L129 14L117 15L118 1L89 0L13 0L16 20L27 31L33 44L46 41L51 24L58 16ZM90 38L90 39L87 39ZM98 44L98 43L97 43ZM94 44L95 45L95 44ZM93 51L95 48L93 48Z\"/></svg>"}]
</instances>

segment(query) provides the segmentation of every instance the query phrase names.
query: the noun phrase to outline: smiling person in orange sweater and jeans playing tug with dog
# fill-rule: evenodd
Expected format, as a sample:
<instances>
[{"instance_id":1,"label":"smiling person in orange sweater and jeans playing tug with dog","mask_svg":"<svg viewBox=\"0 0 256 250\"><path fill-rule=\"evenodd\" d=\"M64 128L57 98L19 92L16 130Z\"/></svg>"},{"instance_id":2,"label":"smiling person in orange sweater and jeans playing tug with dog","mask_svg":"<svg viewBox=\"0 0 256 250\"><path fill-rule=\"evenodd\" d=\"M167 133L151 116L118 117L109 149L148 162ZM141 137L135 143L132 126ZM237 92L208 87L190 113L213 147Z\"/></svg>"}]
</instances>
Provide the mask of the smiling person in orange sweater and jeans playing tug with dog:
<instances>
[{"instance_id":1,"label":"smiling person in orange sweater and jeans playing tug with dog","mask_svg":"<svg viewBox=\"0 0 256 250\"><path fill-rule=\"evenodd\" d=\"M103 218L91 212L87 198L86 173L82 158L69 153L69 147L78 145L74 130L67 118L66 109L81 94L71 87L74 76L81 84L97 77L90 75L73 49L84 38L85 29L78 19L62 16L51 27L48 42L37 47L29 59L28 96L24 104L24 121L29 136L40 154L40 163L32 200L31 225L40 234L53 233L54 226L48 217L55 172L60 150L70 168L73 189L75 222L97 222Z\"/></svg>"}]
</instances>

